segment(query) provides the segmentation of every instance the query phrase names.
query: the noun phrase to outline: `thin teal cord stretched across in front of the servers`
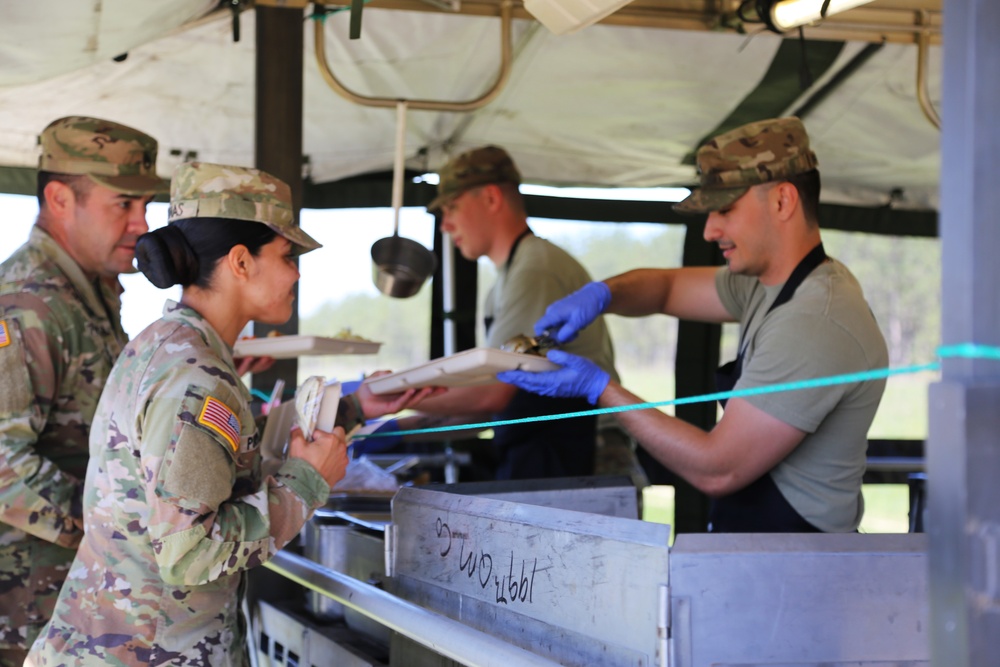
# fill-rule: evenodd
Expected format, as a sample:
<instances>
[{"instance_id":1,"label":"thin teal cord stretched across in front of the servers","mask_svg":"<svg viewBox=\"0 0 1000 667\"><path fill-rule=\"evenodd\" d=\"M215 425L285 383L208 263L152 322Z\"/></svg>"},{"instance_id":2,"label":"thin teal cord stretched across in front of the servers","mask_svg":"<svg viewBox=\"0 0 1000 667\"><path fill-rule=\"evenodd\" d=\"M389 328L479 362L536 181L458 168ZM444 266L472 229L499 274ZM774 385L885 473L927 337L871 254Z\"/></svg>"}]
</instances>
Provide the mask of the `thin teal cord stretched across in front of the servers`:
<instances>
[{"instance_id":1,"label":"thin teal cord stretched across in front of the servers","mask_svg":"<svg viewBox=\"0 0 1000 667\"><path fill-rule=\"evenodd\" d=\"M990 345L979 345L976 343L962 343L959 345L949 345L939 347L937 356L941 358L963 357L967 359L990 359L1000 361L1000 347ZM610 408L594 408L593 410L581 410L579 412L565 412L556 415L541 415L538 417L524 417L521 419L501 419L498 421L480 422L478 424L458 424L455 426L436 426L434 428L417 428L408 431L393 431L392 433L367 433L354 436L354 440L368 438L399 437L403 435L417 435L424 433L444 433L446 431L464 431L469 429L486 429L494 426L509 426L511 424L527 424L530 422L555 421L557 419L572 419L574 417L589 417L591 415L614 414L617 412L630 412L632 410L648 410L650 408L660 408L668 405L690 405L692 403L708 403L722 398L742 398L744 396L759 396L761 394L777 394L783 391L797 391L801 389L812 389L815 387L830 387L838 384L851 384L854 382L868 382L869 380L883 380L894 375L909 375L912 373L922 373L924 371L941 370L941 362L934 361L929 364L918 364L915 366L901 366L899 368L877 368L875 370L863 371L860 373L845 373L843 375L830 375L811 380L799 380L796 382L785 382L782 384L770 385L767 387L751 387L750 389L736 389L733 391L719 391L713 394L703 394L701 396L689 396L686 398L674 398L668 401L655 401L648 403L636 403L634 405L619 405Z\"/></svg>"}]
</instances>

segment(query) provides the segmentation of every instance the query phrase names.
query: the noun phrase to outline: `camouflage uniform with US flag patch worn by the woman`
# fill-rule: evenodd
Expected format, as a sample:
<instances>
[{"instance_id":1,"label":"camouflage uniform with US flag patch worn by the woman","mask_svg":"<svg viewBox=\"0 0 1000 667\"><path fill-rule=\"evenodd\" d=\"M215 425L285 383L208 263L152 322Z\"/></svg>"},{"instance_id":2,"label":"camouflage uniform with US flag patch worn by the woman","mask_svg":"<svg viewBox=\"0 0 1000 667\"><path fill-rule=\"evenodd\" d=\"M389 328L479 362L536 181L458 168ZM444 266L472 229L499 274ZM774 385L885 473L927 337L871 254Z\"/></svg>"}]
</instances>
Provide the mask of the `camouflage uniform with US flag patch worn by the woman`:
<instances>
[{"instance_id":1,"label":"camouflage uniform with US flag patch worn by the woman","mask_svg":"<svg viewBox=\"0 0 1000 667\"><path fill-rule=\"evenodd\" d=\"M262 479L231 348L185 306L163 315L125 348L98 406L86 534L35 665L246 664L245 573L329 497L301 459Z\"/></svg>"}]
</instances>

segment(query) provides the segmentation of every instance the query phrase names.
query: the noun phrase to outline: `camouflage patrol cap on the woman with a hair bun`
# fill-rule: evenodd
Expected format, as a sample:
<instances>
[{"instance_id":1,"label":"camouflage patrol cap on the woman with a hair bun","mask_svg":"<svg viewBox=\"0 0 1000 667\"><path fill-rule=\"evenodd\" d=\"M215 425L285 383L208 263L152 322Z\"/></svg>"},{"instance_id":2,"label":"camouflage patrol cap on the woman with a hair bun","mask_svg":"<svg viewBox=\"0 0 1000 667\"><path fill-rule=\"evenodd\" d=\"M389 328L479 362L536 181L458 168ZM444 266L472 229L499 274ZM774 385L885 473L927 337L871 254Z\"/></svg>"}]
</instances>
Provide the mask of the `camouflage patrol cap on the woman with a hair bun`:
<instances>
[{"instance_id":1,"label":"camouflage patrol cap on the woman with a hair bun","mask_svg":"<svg viewBox=\"0 0 1000 667\"><path fill-rule=\"evenodd\" d=\"M296 222L288 184L260 169L207 162L177 167L167 222L189 218L260 222L291 241L300 255L323 247Z\"/></svg>"}]
</instances>

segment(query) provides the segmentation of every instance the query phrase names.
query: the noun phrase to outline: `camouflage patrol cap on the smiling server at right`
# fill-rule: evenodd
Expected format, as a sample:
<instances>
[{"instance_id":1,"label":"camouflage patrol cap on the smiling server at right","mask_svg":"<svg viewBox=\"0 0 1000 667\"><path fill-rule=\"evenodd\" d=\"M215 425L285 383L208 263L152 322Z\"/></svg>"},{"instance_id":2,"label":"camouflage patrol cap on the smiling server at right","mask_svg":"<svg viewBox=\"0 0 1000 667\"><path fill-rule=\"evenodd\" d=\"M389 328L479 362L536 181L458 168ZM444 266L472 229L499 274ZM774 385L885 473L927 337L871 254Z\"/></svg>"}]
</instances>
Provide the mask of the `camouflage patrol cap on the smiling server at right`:
<instances>
[{"instance_id":1,"label":"camouflage patrol cap on the smiling server at right","mask_svg":"<svg viewBox=\"0 0 1000 667\"><path fill-rule=\"evenodd\" d=\"M725 208L754 185L780 181L816 168L816 154L798 118L749 123L709 140L696 156L701 188L677 204L680 213Z\"/></svg>"}]
</instances>

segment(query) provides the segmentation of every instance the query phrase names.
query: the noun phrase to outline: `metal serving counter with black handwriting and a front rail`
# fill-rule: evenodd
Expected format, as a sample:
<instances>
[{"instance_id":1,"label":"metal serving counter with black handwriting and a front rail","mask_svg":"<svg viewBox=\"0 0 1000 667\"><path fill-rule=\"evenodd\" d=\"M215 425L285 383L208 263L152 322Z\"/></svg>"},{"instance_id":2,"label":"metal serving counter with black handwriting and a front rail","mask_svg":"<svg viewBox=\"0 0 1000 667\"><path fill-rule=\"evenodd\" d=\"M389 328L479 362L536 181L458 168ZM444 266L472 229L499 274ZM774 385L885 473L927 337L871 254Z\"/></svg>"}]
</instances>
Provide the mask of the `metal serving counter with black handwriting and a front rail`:
<instances>
[{"instance_id":1,"label":"metal serving counter with black handwriting and a front rail","mask_svg":"<svg viewBox=\"0 0 1000 667\"><path fill-rule=\"evenodd\" d=\"M383 628L347 615L303 633L360 632L393 667L929 664L924 535L681 535L671 547L616 480L403 488L381 572L284 552L268 566ZM354 664L308 654L298 664Z\"/></svg>"}]
</instances>

